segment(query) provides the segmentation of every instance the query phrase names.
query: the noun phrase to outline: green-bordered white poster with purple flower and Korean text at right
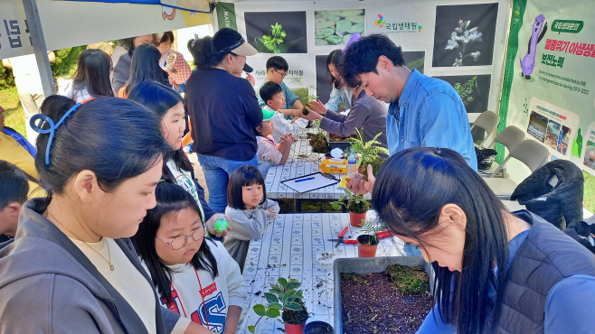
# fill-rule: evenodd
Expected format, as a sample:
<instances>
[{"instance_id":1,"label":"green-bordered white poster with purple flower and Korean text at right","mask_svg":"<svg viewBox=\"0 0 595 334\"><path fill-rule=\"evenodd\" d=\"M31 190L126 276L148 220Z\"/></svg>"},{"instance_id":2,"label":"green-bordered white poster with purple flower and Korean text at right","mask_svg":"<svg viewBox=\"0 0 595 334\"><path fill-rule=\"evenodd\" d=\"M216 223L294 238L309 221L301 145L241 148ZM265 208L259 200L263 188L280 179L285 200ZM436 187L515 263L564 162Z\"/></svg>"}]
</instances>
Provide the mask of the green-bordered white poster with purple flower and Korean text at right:
<instances>
[{"instance_id":1,"label":"green-bordered white poster with purple flower and Korean text at right","mask_svg":"<svg viewBox=\"0 0 595 334\"><path fill-rule=\"evenodd\" d=\"M595 6L515 0L506 51L501 124L515 125L595 175ZM547 25L547 29L544 29ZM543 34L542 38L540 36ZM514 171L523 169L511 163ZM526 173L511 174L521 181Z\"/></svg>"}]
</instances>

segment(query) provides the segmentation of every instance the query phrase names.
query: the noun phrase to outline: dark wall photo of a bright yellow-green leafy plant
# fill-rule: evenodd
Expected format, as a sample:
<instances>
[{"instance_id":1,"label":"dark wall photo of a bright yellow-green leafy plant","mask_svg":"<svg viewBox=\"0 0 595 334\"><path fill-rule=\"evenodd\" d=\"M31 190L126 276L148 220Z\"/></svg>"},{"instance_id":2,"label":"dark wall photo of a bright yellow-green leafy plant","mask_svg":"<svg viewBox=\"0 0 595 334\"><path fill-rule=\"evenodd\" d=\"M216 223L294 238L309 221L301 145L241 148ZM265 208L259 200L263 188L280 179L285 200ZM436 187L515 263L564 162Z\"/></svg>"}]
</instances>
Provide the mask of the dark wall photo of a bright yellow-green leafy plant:
<instances>
[{"instance_id":1,"label":"dark wall photo of a bright yellow-green leafy plant","mask_svg":"<svg viewBox=\"0 0 595 334\"><path fill-rule=\"evenodd\" d=\"M248 42L262 53L307 53L306 12L245 12Z\"/></svg>"}]
</instances>

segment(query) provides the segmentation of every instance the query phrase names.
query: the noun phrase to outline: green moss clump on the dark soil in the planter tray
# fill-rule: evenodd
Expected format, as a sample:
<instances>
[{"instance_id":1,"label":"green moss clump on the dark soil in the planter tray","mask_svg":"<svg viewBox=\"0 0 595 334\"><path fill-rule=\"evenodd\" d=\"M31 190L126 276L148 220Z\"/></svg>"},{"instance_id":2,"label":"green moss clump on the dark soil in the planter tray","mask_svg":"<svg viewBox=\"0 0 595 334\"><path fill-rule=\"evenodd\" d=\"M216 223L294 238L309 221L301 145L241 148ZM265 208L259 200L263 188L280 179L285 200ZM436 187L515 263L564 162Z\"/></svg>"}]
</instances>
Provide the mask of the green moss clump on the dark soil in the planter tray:
<instances>
[{"instance_id":1,"label":"green moss clump on the dark soil in the planter tray","mask_svg":"<svg viewBox=\"0 0 595 334\"><path fill-rule=\"evenodd\" d=\"M392 282L394 290L406 294L423 294L430 291L430 278L422 266L405 266L392 264L386 272Z\"/></svg>"}]
</instances>

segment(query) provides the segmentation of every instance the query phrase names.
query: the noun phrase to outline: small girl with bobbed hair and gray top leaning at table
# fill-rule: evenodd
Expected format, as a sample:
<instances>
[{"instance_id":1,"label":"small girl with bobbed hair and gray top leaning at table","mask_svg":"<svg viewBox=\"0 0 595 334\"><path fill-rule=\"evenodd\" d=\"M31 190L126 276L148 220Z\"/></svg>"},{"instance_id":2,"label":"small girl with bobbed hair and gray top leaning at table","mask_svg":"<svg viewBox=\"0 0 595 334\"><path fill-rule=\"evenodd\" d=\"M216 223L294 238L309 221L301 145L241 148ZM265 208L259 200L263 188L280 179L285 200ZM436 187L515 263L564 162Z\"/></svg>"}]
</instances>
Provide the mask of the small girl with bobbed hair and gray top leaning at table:
<instances>
[{"instance_id":1,"label":"small girl with bobbed hair and gray top leaning at table","mask_svg":"<svg viewBox=\"0 0 595 334\"><path fill-rule=\"evenodd\" d=\"M223 240L223 246L244 271L250 240L260 239L267 226L279 214L279 204L267 199L264 178L259 169L243 165L231 173L227 184L227 208L231 231Z\"/></svg>"}]
</instances>

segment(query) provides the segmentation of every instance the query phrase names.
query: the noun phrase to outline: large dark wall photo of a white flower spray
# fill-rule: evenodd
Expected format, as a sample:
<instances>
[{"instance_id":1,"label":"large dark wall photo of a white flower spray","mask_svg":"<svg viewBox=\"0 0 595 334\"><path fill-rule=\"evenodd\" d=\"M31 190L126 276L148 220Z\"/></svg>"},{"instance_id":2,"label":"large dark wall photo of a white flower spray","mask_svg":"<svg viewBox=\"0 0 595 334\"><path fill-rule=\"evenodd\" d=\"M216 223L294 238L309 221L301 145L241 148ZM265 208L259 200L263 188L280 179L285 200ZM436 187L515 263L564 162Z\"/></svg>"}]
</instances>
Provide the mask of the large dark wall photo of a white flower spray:
<instances>
[{"instance_id":1,"label":"large dark wall photo of a white flower spray","mask_svg":"<svg viewBox=\"0 0 595 334\"><path fill-rule=\"evenodd\" d=\"M492 65L498 4L436 6L433 67Z\"/></svg>"}]
</instances>

